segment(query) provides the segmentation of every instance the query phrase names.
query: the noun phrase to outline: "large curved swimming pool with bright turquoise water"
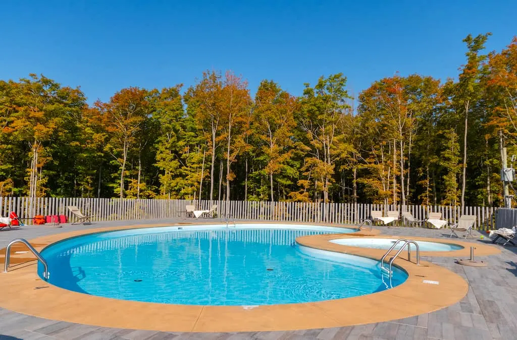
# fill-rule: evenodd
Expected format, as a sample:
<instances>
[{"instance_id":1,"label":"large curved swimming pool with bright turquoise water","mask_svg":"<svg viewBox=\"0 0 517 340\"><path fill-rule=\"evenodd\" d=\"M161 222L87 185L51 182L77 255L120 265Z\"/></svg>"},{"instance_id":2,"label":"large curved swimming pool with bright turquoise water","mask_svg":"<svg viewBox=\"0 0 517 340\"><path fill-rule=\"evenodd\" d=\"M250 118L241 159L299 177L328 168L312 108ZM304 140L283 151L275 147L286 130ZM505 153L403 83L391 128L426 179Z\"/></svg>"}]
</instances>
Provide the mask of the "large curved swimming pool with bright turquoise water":
<instances>
[{"instance_id":1,"label":"large curved swimming pool with bright turquoise water","mask_svg":"<svg viewBox=\"0 0 517 340\"><path fill-rule=\"evenodd\" d=\"M301 251L303 235L354 229L292 224L171 226L90 234L45 248L49 283L75 292L188 305L269 305L371 294L391 283L378 261ZM38 272L42 276L42 266Z\"/></svg>"}]
</instances>

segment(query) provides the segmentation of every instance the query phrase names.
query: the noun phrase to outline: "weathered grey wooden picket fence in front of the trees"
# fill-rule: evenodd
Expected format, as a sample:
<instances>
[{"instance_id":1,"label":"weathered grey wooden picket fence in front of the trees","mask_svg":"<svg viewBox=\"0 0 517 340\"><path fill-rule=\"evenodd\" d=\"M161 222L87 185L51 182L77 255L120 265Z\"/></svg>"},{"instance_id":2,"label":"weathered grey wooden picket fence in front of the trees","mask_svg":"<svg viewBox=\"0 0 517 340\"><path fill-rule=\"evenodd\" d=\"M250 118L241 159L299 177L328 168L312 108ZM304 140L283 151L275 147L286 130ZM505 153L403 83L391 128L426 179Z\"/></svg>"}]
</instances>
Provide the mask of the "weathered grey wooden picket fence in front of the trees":
<instances>
[{"instance_id":1,"label":"weathered grey wooden picket fence in front of the trees","mask_svg":"<svg viewBox=\"0 0 517 340\"><path fill-rule=\"evenodd\" d=\"M84 214L94 215L93 221L139 220L185 217L186 205L195 205L198 210L208 210L217 205L218 216L256 221L315 222L335 224L358 224L370 218L370 211L408 211L415 218L426 219L430 212L442 213L449 224L457 222L462 215L459 206L440 205L379 205L351 203L306 203L306 202L256 202L256 201L191 201L151 199L108 198L35 198L0 197L0 215L8 216L14 211L24 222L32 223L35 215L66 215L74 218L66 208L77 206ZM464 214L476 215L476 229L493 229L497 208L469 206ZM386 213L385 213L386 215ZM516 215L517 216L517 215ZM400 224L403 221L399 222Z\"/></svg>"}]
</instances>

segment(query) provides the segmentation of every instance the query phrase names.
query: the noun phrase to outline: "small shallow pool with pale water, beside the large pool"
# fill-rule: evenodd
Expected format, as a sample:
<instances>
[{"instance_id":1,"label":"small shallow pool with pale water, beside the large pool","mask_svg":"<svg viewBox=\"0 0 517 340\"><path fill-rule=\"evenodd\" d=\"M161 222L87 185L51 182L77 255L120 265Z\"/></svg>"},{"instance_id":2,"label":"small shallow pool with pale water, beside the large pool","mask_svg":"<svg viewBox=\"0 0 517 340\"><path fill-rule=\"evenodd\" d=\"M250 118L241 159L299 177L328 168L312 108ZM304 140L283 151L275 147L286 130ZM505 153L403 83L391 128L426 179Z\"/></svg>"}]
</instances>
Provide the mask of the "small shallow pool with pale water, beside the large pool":
<instances>
[{"instance_id":1,"label":"small shallow pool with pale water, beside the large pool","mask_svg":"<svg viewBox=\"0 0 517 340\"><path fill-rule=\"evenodd\" d=\"M330 242L343 245L343 246L352 246L352 247L361 247L361 248L373 248L373 249L390 249L393 246L393 243L397 241L394 238L339 238L332 239ZM416 241L418 244L418 248L420 251L452 251L452 250L460 250L463 249L463 246L449 244L449 243L440 243L440 242L428 242L428 241ZM403 242L400 242L395 249L400 249L402 247ZM411 249L416 249L415 245L410 245Z\"/></svg>"}]
</instances>

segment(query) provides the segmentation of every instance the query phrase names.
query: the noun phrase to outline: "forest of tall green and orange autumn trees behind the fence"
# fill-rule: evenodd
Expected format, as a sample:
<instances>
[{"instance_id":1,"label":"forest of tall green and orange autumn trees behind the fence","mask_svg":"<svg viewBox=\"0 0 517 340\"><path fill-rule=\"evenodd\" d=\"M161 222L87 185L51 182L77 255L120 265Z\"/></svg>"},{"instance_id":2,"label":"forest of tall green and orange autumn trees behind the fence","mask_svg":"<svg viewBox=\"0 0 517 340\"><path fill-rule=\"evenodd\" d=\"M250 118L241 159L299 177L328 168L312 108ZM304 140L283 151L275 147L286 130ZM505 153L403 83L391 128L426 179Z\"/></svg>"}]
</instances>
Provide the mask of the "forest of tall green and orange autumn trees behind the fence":
<instances>
[{"instance_id":1,"label":"forest of tall green and orange autumn trees behind the fence","mask_svg":"<svg viewBox=\"0 0 517 340\"><path fill-rule=\"evenodd\" d=\"M395 74L357 98L342 73L294 96L206 71L93 104L43 75L0 80L0 196L500 206L517 38L489 38L463 40L458 79Z\"/></svg>"}]
</instances>

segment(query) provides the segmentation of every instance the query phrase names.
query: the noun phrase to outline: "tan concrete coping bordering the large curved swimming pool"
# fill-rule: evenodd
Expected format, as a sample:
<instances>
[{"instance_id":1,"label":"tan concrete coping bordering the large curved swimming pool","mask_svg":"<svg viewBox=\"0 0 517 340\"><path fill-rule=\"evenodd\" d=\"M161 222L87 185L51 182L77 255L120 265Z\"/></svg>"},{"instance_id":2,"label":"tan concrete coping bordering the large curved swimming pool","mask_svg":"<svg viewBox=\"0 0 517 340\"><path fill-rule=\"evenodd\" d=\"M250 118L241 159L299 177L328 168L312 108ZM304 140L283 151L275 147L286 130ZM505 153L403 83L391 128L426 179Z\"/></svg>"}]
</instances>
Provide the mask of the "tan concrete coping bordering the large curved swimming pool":
<instances>
[{"instance_id":1,"label":"tan concrete coping bordering the large curved swimming pool","mask_svg":"<svg viewBox=\"0 0 517 340\"><path fill-rule=\"evenodd\" d=\"M256 223L267 222L258 221ZM31 244L37 250L41 250L43 247L65 238L102 231L199 224L201 223L167 223L96 228L42 236L31 240ZM316 223L302 224L337 226ZM378 233L378 230L372 232L361 230L354 236L374 237ZM332 234L339 238L351 237L351 235ZM297 238L297 242L311 248L346 252L375 260L379 260L381 257L378 256L377 249L347 247L355 249L336 250L332 245L346 246L332 244L318 236L323 235L302 236ZM432 240L435 241L435 239ZM13 249L14 251L16 249ZM408 279L397 287L374 294L321 302L264 306L173 305L117 300L72 292L42 281L36 273L36 262L25 262L31 260L28 256L11 257L12 260L14 258L17 258L19 264L12 266L8 273L0 273L0 291L2 292L0 306L19 313L48 319L86 323L100 327L154 331L286 331L360 325L436 311L460 301L468 291L468 284L465 280L443 267L423 261L420 266L417 266L398 258L394 263L408 273ZM428 283L424 283L424 281ZM401 303L401 301L406 302ZM123 316L121 316L121 311L124 311Z\"/></svg>"}]
</instances>

